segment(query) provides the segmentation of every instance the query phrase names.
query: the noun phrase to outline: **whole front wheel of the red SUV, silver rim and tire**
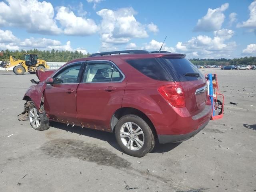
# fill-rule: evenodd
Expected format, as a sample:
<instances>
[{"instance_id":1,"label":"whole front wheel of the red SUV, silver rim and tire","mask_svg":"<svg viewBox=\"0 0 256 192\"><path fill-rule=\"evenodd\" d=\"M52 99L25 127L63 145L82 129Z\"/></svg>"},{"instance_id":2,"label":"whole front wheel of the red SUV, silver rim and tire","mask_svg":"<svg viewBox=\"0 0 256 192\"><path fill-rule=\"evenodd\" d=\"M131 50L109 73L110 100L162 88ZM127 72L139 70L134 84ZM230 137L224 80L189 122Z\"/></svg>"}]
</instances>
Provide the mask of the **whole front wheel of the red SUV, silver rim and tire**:
<instances>
[{"instance_id":1,"label":"whole front wheel of the red SUV, silver rim and tire","mask_svg":"<svg viewBox=\"0 0 256 192\"><path fill-rule=\"evenodd\" d=\"M43 105L41 105L40 110L43 113L39 113L34 103L31 103L28 108L28 118L32 128L44 131L49 129L49 118L46 116Z\"/></svg>"}]
</instances>

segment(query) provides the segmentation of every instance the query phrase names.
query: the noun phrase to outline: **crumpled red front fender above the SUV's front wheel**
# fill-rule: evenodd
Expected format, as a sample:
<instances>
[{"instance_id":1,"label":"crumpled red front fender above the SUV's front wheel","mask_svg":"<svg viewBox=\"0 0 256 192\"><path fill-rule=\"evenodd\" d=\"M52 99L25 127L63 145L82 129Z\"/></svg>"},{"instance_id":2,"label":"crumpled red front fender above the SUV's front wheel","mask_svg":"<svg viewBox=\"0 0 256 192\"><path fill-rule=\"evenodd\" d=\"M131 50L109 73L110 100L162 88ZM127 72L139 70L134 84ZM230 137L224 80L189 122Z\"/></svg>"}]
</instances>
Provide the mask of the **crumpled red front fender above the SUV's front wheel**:
<instances>
[{"instance_id":1,"label":"crumpled red front fender above the SUV's front wheel","mask_svg":"<svg viewBox=\"0 0 256 192\"><path fill-rule=\"evenodd\" d=\"M27 101L29 97L30 100L34 102L37 110L40 112L41 101L45 88L46 84L44 82L30 86L30 88L28 88L28 90L26 91L23 100Z\"/></svg>"}]
</instances>

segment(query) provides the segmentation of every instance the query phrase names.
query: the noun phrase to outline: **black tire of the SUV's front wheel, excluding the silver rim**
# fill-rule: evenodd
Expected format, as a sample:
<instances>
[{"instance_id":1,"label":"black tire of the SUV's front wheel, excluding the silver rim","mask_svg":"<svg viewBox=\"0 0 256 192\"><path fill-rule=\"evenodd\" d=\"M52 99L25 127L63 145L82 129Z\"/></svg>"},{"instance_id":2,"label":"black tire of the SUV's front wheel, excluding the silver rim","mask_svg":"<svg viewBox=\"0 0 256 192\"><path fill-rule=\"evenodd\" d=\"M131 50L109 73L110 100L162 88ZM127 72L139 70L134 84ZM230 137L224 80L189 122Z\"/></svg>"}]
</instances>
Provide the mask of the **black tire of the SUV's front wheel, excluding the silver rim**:
<instances>
[{"instance_id":1,"label":"black tire of the SUV's front wheel, excluding the silver rim","mask_svg":"<svg viewBox=\"0 0 256 192\"><path fill-rule=\"evenodd\" d=\"M32 126L32 128L38 131L44 131L49 129L50 121L49 121L49 118L46 116L43 105L41 105L40 107L40 110L42 110L43 113L39 113L38 110L36 109L36 112L40 117L40 126L36 127L32 124L32 121L30 118L30 111L33 111L34 109L36 109L36 106L33 102L31 102L30 106L28 107L28 117L29 117L30 125Z\"/></svg>"}]
</instances>

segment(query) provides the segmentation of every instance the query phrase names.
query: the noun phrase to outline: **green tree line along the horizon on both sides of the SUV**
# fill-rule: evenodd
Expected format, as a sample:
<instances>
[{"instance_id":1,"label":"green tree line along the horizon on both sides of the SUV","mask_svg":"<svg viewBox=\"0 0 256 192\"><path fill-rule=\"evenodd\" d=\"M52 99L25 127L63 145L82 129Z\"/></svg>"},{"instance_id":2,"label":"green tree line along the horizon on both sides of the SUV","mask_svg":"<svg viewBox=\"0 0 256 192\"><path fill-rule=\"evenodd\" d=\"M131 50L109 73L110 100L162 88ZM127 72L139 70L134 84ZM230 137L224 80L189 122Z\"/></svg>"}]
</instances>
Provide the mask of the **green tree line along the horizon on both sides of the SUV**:
<instances>
[{"instance_id":1,"label":"green tree line along the horizon on both sides of the SUV","mask_svg":"<svg viewBox=\"0 0 256 192\"><path fill-rule=\"evenodd\" d=\"M78 51L59 51L52 49L51 51L45 50L21 50L10 51L2 50L0 52L0 61L9 61L10 56L16 59L24 60L24 54L37 54L39 59L46 60L46 62L68 62L76 58L84 58L90 56L90 53L83 54ZM256 65L256 57L243 57L234 59L190 59L194 65Z\"/></svg>"}]
</instances>

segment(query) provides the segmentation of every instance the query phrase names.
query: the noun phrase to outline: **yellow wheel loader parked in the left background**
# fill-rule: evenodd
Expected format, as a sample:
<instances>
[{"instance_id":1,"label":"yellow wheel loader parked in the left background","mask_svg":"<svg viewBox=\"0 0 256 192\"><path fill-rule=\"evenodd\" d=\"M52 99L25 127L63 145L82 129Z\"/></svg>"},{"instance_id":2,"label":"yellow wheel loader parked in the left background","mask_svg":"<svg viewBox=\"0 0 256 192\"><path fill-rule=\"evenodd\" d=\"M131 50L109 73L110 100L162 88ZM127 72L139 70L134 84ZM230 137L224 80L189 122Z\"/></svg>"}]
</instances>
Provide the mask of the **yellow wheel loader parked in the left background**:
<instances>
[{"instance_id":1,"label":"yellow wheel loader parked in the left background","mask_svg":"<svg viewBox=\"0 0 256 192\"><path fill-rule=\"evenodd\" d=\"M35 74L36 70L45 71L49 69L45 60L38 59L36 54L24 54L25 60L19 60L10 56L10 63L2 62L1 67L8 68L14 67L13 72L16 75L23 75L24 72L29 72L30 74Z\"/></svg>"}]
</instances>

